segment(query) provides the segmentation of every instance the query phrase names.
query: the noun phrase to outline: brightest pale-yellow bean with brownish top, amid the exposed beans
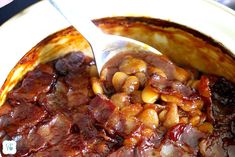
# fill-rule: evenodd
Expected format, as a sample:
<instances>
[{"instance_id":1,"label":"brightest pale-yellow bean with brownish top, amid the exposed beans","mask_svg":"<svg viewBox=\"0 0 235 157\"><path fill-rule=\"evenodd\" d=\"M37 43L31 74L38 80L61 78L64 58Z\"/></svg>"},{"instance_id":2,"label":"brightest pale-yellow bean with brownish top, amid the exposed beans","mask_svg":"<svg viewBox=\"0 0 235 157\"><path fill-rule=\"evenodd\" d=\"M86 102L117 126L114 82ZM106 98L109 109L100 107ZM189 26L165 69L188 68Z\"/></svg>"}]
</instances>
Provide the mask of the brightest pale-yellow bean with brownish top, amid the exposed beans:
<instances>
[{"instance_id":1,"label":"brightest pale-yellow bean with brownish top, amid the exposed beans","mask_svg":"<svg viewBox=\"0 0 235 157\"><path fill-rule=\"evenodd\" d=\"M144 88L141 96L145 103L154 103L159 98L159 94L150 86Z\"/></svg>"}]
</instances>

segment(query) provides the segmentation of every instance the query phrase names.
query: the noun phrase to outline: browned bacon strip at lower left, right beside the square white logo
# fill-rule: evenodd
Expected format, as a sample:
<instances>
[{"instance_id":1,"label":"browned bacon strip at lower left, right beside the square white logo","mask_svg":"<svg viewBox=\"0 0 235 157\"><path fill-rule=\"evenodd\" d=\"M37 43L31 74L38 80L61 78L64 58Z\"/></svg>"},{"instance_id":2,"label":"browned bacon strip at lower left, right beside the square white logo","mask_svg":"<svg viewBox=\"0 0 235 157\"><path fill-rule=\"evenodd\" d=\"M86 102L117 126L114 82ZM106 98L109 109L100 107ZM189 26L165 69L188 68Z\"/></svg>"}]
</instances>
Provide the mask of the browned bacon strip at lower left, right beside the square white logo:
<instances>
[{"instance_id":1,"label":"browned bacon strip at lower left, right beside the square white logo","mask_svg":"<svg viewBox=\"0 0 235 157\"><path fill-rule=\"evenodd\" d=\"M17 154L29 155L46 145L57 145L69 134L71 122L62 114L52 117L49 122L33 127L28 133L19 132L12 137L16 141Z\"/></svg>"}]
</instances>

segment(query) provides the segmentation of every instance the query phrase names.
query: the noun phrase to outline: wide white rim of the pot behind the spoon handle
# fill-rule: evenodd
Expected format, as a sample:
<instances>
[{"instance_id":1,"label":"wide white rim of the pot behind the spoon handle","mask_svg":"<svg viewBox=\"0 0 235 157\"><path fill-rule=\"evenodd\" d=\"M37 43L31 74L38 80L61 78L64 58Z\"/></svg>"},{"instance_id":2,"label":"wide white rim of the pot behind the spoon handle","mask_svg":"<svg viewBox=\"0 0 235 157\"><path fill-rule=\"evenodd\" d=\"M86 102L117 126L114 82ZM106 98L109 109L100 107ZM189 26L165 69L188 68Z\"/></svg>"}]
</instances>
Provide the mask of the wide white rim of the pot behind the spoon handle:
<instances>
[{"instance_id":1,"label":"wide white rim of the pot behind the spoon handle","mask_svg":"<svg viewBox=\"0 0 235 157\"><path fill-rule=\"evenodd\" d=\"M131 15L180 23L214 38L235 54L235 12L212 0L85 0L77 4L84 6L81 12L87 12L91 19ZM0 85L26 52L67 26L47 0L0 26Z\"/></svg>"}]
</instances>

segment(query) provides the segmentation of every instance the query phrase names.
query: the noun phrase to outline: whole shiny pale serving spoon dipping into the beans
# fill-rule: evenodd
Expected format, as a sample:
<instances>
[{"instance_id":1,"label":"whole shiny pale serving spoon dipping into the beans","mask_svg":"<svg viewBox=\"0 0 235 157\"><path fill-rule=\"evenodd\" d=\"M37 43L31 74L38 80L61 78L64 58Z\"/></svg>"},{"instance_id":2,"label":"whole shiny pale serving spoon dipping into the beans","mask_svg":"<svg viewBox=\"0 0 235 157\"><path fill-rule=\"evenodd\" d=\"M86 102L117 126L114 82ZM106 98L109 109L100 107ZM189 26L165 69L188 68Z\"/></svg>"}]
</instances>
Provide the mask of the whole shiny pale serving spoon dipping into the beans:
<instances>
[{"instance_id":1,"label":"whole shiny pale serving spoon dipping into the beans","mask_svg":"<svg viewBox=\"0 0 235 157\"><path fill-rule=\"evenodd\" d=\"M126 37L104 34L81 12L77 0L49 0L64 18L72 24L89 42L95 58L98 73L105 63L119 52L147 51L161 55L155 48ZM82 5L82 3L80 3Z\"/></svg>"}]
</instances>

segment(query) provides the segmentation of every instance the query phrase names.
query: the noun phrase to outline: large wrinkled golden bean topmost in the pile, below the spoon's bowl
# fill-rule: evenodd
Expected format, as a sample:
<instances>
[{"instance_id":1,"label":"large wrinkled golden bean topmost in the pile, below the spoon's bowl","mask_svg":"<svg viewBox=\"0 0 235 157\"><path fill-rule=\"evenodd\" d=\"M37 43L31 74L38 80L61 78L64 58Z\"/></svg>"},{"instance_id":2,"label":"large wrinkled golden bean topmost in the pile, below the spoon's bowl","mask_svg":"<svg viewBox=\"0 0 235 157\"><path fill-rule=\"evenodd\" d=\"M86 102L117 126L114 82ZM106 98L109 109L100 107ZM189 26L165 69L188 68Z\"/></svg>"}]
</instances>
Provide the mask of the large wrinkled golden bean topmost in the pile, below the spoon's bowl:
<instances>
[{"instance_id":1,"label":"large wrinkled golden bean topmost in the pile, below the spoon's bowl","mask_svg":"<svg viewBox=\"0 0 235 157\"><path fill-rule=\"evenodd\" d=\"M126 57L119 65L119 70L126 74L135 74L137 72L146 72L147 64L137 58Z\"/></svg>"}]
</instances>

